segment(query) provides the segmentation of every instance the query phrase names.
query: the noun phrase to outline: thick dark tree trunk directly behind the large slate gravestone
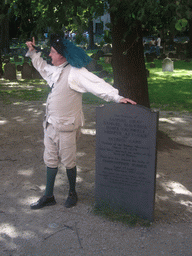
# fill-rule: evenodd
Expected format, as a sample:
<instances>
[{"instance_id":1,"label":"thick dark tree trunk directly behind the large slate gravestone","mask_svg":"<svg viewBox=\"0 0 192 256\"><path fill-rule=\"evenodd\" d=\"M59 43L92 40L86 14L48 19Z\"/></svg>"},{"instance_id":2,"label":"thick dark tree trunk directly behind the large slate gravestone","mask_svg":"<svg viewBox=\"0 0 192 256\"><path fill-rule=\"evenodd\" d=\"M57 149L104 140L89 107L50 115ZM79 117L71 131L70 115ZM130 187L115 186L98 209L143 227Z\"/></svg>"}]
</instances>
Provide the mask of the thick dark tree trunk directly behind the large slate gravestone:
<instances>
[{"instance_id":1,"label":"thick dark tree trunk directly behind the large slate gravestone","mask_svg":"<svg viewBox=\"0 0 192 256\"><path fill-rule=\"evenodd\" d=\"M149 108L141 24L135 22L124 38L128 32L124 19L115 20L115 14L111 14L111 23L114 86L119 89L120 95Z\"/></svg>"}]
</instances>

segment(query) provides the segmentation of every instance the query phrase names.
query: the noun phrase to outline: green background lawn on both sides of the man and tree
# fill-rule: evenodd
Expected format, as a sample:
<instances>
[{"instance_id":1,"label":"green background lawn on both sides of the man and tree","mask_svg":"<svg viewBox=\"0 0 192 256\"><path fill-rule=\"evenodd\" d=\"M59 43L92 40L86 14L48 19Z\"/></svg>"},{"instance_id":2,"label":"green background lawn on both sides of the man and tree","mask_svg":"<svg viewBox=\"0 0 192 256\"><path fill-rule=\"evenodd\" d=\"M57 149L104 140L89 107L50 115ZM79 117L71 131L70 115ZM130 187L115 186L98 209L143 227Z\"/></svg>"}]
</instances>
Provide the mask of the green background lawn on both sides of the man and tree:
<instances>
[{"instance_id":1,"label":"green background lawn on both sides of the man and tree","mask_svg":"<svg viewBox=\"0 0 192 256\"><path fill-rule=\"evenodd\" d=\"M104 70L110 74L113 73L111 65L106 64L104 58L101 58L98 63L103 66ZM150 71L148 90L151 108L192 112L192 62L174 62L174 72L162 72L161 60L155 60L154 64L156 67L150 68L150 63L146 63L146 68ZM94 73L98 74L98 72ZM113 84L113 78L108 77L105 80ZM45 85L42 80L13 82L4 80L0 84L0 99L6 102L13 98L26 101L46 100L49 88L42 84ZM89 93L83 95L83 103L106 104L105 101Z\"/></svg>"}]
</instances>

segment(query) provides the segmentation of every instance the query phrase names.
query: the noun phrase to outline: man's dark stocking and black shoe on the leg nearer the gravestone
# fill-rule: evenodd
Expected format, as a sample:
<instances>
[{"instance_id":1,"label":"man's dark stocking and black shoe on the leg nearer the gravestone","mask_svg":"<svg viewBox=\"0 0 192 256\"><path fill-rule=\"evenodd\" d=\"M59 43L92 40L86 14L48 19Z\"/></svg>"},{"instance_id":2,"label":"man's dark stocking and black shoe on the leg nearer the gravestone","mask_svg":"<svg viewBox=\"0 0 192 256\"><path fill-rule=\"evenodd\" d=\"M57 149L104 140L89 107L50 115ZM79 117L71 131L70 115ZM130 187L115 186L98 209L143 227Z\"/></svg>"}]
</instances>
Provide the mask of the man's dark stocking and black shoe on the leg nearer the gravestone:
<instances>
[{"instance_id":1,"label":"man's dark stocking and black shoe on the leg nearer the gravestone","mask_svg":"<svg viewBox=\"0 0 192 256\"><path fill-rule=\"evenodd\" d=\"M65 202L65 207L70 208L77 204L77 193L75 191L77 168L67 169L67 177L69 180L69 195Z\"/></svg>"}]
</instances>

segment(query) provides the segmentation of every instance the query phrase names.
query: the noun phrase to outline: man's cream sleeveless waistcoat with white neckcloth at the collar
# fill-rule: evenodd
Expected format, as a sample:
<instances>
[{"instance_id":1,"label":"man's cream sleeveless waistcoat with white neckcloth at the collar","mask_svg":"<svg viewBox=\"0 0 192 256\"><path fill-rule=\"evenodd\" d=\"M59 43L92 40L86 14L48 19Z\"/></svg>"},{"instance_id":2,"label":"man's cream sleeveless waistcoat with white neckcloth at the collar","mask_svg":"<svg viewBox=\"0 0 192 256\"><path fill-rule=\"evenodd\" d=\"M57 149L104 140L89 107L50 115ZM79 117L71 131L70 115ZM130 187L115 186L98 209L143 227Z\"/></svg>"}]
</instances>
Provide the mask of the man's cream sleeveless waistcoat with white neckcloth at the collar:
<instances>
[{"instance_id":1,"label":"man's cream sleeveless waistcoat with white neckcloth at the collar","mask_svg":"<svg viewBox=\"0 0 192 256\"><path fill-rule=\"evenodd\" d=\"M63 69L46 103L46 121L59 131L73 131L84 123L82 93L70 88L68 84L70 70L70 65Z\"/></svg>"}]
</instances>

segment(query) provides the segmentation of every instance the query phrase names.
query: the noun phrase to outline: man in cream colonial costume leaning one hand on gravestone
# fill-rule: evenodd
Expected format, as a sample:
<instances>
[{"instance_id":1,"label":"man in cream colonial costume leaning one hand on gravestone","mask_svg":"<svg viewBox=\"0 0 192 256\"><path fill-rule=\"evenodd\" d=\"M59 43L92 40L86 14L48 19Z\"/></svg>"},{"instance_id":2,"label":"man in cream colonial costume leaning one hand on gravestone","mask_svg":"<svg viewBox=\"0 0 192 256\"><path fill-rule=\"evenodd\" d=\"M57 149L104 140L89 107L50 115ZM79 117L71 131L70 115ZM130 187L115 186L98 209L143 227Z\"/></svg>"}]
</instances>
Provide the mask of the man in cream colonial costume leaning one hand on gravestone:
<instances>
[{"instance_id":1,"label":"man in cream colonial costume leaning one hand on gravestone","mask_svg":"<svg viewBox=\"0 0 192 256\"><path fill-rule=\"evenodd\" d=\"M44 196L31 204L31 209L56 204L53 189L59 159L66 168L69 181L69 195L65 207L70 208L77 203L76 137L84 122L82 94L91 92L106 101L136 104L119 96L118 90L85 68L90 58L81 48L57 34L51 36L50 44L49 56L53 66L40 57L40 52L36 52L34 38L26 42L26 56L31 57L34 67L52 88L47 98L44 121L46 189Z\"/></svg>"}]
</instances>

